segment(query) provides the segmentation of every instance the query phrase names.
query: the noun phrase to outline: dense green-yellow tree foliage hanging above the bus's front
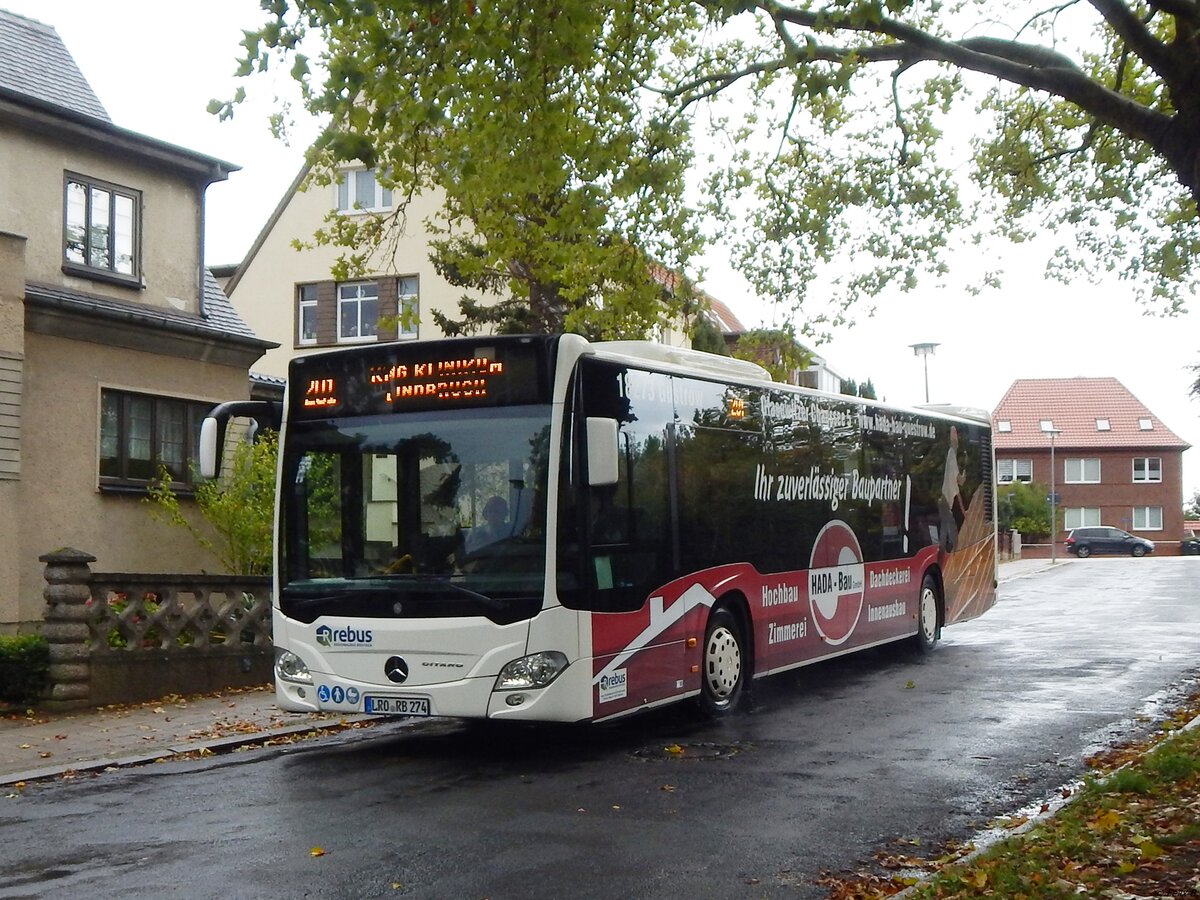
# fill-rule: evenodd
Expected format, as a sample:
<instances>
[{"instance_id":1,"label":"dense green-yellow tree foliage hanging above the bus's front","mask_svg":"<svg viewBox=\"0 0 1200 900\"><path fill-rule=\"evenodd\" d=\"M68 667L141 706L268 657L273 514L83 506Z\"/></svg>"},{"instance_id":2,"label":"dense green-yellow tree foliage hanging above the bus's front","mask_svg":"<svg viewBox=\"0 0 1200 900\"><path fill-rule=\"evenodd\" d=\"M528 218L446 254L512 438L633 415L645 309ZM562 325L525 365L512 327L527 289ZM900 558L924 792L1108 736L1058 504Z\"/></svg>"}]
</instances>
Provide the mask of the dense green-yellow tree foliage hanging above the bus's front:
<instances>
[{"instance_id":1,"label":"dense green-yellow tree foliage hanging above the bus's front","mask_svg":"<svg viewBox=\"0 0 1200 900\"><path fill-rule=\"evenodd\" d=\"M386 265L397 229L434 238L433 260L464 296L454 332L644 336L679 313L668 283L698 246L682 203L686 124L655 115L641 85L666 32L691 12L670 0L593 4L264 0L241 72L286 61L328 124L311 178L373 167L390 215L331 216L316 236L347 248L337 274ZM281 60L282 58L282 60ZM240 92L241 94L241 92ZM222 114L232 104L216 104ZM407 221L410 200L439 212Z\"/></svg>"}]
</instances>

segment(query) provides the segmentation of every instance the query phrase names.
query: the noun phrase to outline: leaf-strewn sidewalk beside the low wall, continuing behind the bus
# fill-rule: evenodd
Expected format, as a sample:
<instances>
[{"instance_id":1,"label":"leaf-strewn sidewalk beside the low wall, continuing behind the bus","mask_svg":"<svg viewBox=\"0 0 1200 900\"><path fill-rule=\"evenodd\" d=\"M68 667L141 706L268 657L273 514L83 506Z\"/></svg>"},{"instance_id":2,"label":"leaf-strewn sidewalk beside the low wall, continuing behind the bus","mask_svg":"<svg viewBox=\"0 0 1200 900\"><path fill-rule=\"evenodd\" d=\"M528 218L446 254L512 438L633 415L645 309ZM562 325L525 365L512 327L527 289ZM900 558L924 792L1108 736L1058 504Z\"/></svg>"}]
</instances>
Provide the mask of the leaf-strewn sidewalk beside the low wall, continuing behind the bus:
<instances>
[{"instance_id":1,"label":"leaf-strewn sidewalk beside the low wall, continuing behind the bus","mask_svg":"<svg viewBox=\"0 0 1200 900\"><path fill-rule=\"evenodd\" d=\"M1000 581L1046 571L1049 559L1001 563ZM361 726L367 715L283 713L269 688L74 713L0 716L0 785L68 773L139 766L185 754L228 751L245 744L284 743L313 731Z\"/></svg>"}]
</instances>

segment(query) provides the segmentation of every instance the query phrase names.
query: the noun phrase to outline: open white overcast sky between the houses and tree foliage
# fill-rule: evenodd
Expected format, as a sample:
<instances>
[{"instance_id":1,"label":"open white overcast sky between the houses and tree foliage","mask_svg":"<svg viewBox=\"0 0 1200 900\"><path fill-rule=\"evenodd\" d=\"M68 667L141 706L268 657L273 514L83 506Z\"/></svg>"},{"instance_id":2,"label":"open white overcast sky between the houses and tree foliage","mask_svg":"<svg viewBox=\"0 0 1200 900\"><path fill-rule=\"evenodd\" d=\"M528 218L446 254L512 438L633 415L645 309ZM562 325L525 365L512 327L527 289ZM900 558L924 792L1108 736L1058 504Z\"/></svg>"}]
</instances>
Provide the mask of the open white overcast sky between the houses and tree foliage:
<instances>
[{"instance_id":1,"label":"open white overcast sky between the houses and tree foliage","mask_svg":"<svg viewBox=\"0 0 1200 900\"><path fill-rule=\"evenodd\" d=\"M239 84L238 41L262 20L257 0L0 0L0 7L58 30L116 125L242 167L208 192L208 262L239 262L316 132L301 122L293 146L276 142L266 124L275 89L262 80L251 80L252 102L233 121L218 122L205 109ZM1190 497L1200 491L1200 401L1188 396L1195 376L1187 366L1200 364L1200 311L1147 317L1117 286L1045 281L1039 250L1049 246L989 248L1009 264L1003 286L979 296L965 289L976 265L964 258L938 283L881 299L874 318L860 317L817 350L844 377L870 378L886 400L902 404L925 400L922 359L910 349L918 342L940 344L928 359L932 402L990 410L1016 378L1116 377L1196 445L1183 456ZM706 265L703 287L744 324L774 324L776 314L749 294L720 251Z\"/></svg>"}]
</instances>

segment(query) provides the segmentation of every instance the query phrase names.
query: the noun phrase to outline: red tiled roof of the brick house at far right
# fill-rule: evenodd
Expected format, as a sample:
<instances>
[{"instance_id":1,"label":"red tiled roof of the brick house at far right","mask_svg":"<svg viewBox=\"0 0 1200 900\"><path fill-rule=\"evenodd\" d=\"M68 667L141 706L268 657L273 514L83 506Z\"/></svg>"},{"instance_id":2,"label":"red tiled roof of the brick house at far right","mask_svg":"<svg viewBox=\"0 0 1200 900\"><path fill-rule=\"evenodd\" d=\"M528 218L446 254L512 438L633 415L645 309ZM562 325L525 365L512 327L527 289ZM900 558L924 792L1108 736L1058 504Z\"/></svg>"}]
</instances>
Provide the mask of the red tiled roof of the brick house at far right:
<instances>
[{"instance_id":1,"label":"red tiled roof of the brick house at far right","mask_svg":"<svg viewBox=\"0 0 1200 900\"><path fill-rule=\"evenodd\" d=\"M1141 427L1148 419L1151 427ZM992 443L1001 449L1044 448L1049 438L1042 421L1060 432L1058 448L1178 448L1190 446L1163 425L1116 378L1022 378L1013 382L991 415ZM1109 430L1097 426L1106 420ZM1010 431L1002 431L1009 422Z\"/></svg>"}]
</instances>

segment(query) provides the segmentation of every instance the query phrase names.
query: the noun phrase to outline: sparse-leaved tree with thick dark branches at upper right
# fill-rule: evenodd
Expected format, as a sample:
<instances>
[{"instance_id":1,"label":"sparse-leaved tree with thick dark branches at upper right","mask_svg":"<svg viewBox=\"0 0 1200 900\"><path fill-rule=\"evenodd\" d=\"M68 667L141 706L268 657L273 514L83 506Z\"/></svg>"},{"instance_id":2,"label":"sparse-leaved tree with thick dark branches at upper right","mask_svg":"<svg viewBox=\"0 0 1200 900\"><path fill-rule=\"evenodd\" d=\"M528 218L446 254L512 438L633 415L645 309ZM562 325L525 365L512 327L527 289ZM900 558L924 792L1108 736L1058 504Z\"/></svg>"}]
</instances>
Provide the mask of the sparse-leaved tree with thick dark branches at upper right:
<instances>
[{"instance_id":1,"label":"sparse-leaved tree with thick dark branches at upper right","mask_svg":"<svg viewBox=\"0 0 1200 900\"><path fill-rule=\"evenodd\" d=\"M664 90L749 100L714 187L754 198L737 246L763 293L835 263L844 308L989 233L1056 241L1054 274L1114 272L1159 310L1194 293L1195 0L700 2L752 34L709 41Z\"/></svg>"}]
</instances>

